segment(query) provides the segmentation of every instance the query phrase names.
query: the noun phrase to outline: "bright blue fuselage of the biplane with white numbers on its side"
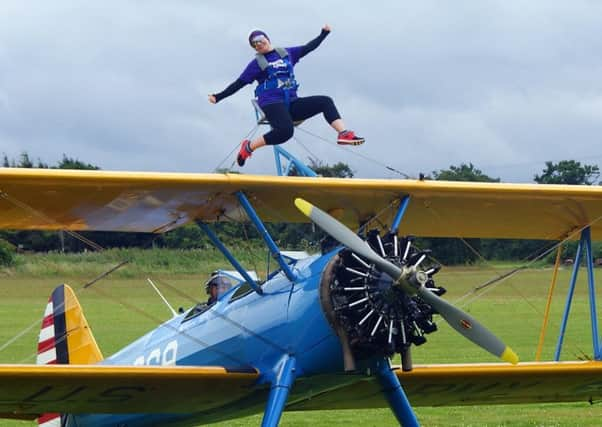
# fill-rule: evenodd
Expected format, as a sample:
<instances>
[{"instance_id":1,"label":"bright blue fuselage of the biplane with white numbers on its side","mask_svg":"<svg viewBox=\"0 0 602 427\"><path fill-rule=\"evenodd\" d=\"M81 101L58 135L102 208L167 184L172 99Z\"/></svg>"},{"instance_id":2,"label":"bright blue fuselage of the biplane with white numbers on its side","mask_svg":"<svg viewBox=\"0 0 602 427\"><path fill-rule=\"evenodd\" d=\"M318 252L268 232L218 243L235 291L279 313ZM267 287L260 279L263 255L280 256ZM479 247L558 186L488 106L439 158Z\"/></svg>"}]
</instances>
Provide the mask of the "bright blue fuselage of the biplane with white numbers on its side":
<instances>
[{"instance_id":1,"label":"bright blue fuselage of the biplane with white numbers on its side","mask_svg":"<svg viewBox=\"0 0 602 427\"><path fill-rule=\"evenodd\" d=\"M263 295L241 292L245 285L237 286L204 312L176 316L102 363L255 368L261 374L258 386L272 382L275 367L286 355L296 359L297 378L341 372L341 345L320 304L322 272L335 254L298 261L293 267L295 283L279 272L262 286ZM91 414L70 416L68 425L193 425L203 417Z\"/></svg>"}]
</instances>

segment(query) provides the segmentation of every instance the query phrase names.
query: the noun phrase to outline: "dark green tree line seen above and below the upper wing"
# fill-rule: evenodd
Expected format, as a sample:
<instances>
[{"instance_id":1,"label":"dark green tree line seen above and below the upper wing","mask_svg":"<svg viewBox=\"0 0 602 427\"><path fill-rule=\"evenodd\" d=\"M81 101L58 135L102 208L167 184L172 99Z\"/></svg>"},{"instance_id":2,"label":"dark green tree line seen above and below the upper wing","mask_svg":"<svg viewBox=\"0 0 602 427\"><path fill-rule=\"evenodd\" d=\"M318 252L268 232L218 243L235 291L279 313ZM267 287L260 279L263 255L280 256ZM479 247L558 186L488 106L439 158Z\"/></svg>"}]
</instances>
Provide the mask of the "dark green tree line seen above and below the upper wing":
<instances>
[{"instance_id":1,"label":"dark green tree line seen above and below the upper wing","mask_svg":"<svg viewBox=\"0 0 602 427\"><path fill-rule=\"evenodd\" d=\"M91 169L100 167L79 159L63 155L56 165L41 160L33 161L28 153L22 153L18 159L3 156L4 167L51 168L51 169ZM354 173L345 163L324 164L310 159L310 167L319 175L352 178ZM563 160L557 163L546 162L545 168L534 175L538 184L600 185L600 171L597 165L581 164L575 160ZM500 178L486 175L472 163L452 165L448 169L433 171L424 179L446 181L500 182ZM245 240L259 241L261 237L254 227L242 223L218 223L215 225L218 236L228 245L238 245ZM321 230L312 224L267 224L270 234L277 239L282 248L307 249L319 247L325 237ZM167 234L120 233L120 232L82 232L103 248L113 247L163 247L178 249L203 249L211 245L207 236L196 226L180 227ZM496 260L530 260L538 256L554 242L519 239L456 239L456 238L420 238L417 245L430 249L433 255L446 265L473 263L479 257ZM576 244L566 245L565 256L574 256ZM48 252L80 252L89 250L85 242L61 232L44 231L0 231L0 265L10 264L15 250ZM602 257L602 246L594 245L594 255ZM550 255L552 258L552 255Z\"/></svg>"}]
</instances>

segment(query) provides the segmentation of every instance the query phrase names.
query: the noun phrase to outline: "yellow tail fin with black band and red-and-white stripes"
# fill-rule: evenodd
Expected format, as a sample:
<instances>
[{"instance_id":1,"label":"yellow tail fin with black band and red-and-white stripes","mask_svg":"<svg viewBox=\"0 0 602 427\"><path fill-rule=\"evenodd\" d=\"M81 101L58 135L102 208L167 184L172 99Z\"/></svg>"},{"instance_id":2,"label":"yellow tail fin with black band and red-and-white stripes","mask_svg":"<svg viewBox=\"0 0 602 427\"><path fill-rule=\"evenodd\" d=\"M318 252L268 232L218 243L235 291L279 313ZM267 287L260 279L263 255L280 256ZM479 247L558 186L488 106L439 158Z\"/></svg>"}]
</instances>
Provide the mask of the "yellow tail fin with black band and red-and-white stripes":
<instances>
[{"instance_id":1,"label":"yellow tail fin with black band and red-and-white stripes","mask_svg":"<svg viewBox=\"0 0 602 427\"><path fill-rule=\"evenodd\" d=\"M73 290L59 285L48 298L38 339L38 365L92 364L103 359ZM44 427L60 427L61 414L38 418Z\"/></svg>"}]
</instances>

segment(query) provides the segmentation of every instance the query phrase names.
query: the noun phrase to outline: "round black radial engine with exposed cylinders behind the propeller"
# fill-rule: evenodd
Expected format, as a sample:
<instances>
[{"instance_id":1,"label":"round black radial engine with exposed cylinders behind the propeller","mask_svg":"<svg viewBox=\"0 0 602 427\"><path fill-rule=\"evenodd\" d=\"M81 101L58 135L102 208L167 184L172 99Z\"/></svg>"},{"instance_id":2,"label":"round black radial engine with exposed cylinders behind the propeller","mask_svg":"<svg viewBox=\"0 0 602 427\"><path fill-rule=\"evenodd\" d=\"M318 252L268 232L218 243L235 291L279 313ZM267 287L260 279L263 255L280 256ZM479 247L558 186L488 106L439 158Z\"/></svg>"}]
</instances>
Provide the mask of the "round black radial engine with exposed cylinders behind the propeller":
<instances>
[{"instance_id":1,"label":"round black radial engine with exposed cylinders behind the propeller","mask_svg":"<svg viewBox=\"0 0 602 427\"><path fill-rule=\"evenodd\" d=\"M433 264L428 251L412 246L412 237L398 238L377 230L368 233L367 243L383 258L400 268L413 268L415 277L408 283L423 282L442 295L433 276L440 266ZM417 295L381 272L373 263L349 249L333 258L322 279L322 306L343 344L356 359L390 357L408 353L412 344L426 342L425 335L437 330L436 311ZM347 365L347 364L346 364Z\"/></svg>"}]
</instances>

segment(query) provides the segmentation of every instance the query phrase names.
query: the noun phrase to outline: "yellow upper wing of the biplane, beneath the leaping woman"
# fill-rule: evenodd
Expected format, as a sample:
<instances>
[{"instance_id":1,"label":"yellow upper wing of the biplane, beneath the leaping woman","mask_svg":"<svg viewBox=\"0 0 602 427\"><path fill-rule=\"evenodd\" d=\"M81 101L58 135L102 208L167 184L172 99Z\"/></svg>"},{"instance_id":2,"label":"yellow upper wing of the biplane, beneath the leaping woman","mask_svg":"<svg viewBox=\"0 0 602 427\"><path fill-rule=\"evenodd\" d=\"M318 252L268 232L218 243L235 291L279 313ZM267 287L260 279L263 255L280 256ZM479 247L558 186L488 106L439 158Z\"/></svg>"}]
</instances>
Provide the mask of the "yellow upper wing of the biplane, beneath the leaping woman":
<instances>
[{"instance_id":1,"label":"yellow upper wing of the biplane, beneath the leaping woman","mask_svg":"<svg viewBox=\"0 0 602 427\"><path fill-rule=\"evenodd\" d=\"M558 239L591 225L602 238L602 187L11 168L0 168L0 228L162 232L244 218L238 191L267 222L307 221L302 197L352 227L390 223L409 195L402 234Z\"/></svg>"}]
</instances>

